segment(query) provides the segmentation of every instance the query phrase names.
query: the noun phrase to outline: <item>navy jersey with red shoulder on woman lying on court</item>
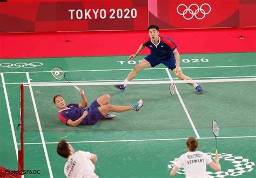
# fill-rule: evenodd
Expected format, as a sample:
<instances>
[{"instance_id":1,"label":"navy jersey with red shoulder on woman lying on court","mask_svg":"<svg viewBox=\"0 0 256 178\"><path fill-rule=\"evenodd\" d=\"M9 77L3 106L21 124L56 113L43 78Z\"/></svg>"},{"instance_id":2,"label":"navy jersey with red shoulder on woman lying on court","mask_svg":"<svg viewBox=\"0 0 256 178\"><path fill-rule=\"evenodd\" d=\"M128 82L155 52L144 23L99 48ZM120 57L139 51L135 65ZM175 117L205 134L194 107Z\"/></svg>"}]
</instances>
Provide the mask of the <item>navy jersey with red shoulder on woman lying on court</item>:
<instances>
[{"instance_id":1,"label":"navy jersey with red shoulder on woman lying on court","mask_svg":"<svg viewBox=\"0 0 256 178\"><path fill-rule=\"evenodd\" d=\"M78 104L68 104L66 109L59 111L59 119L67 125L69 119L78 120L86 110L86 108L78 108ZM83 121L79 125L83 125Z\"/></svg>"}]
</instances>

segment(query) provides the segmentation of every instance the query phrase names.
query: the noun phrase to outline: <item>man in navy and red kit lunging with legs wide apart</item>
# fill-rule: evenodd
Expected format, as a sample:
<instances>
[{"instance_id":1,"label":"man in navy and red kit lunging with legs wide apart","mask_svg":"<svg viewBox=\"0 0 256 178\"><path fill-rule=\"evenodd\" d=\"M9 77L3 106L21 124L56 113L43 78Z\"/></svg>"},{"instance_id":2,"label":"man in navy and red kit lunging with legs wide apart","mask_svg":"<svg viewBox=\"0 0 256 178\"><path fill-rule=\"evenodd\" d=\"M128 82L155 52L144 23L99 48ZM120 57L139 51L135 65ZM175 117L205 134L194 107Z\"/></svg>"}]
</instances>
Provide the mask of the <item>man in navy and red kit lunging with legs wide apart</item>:
<instances>
[{"instance_id":1,"label":"man in navy and red kit lunging with legs wide apart","mask_svg":"<svg viewBox=\"0 0 256 178\"><path fill-rule=\"evenodd\" d=\"M139 46L138 51L129 57L129 60L132 60L138 56L145 46L150 49L151 54L142 59L140 63L133 68L133 70L124 80L124 85L115 86L120 91L124 91L127 83L135 78L139 71L148 67L157 66L158 64L164 64L166 67L168 67L168 69L171 69L180 80L191 80L191 78L185 76L180 69L180 56L177 50L177 45L168 37L158 36L159 28L157 25L150 25L149 28L147 28L147 31L149 31L149 37L147 37ZM188 84L194 86L199 94L204 93L204 90L200 85L196 83Z\"/></svg>"}]
</instances>

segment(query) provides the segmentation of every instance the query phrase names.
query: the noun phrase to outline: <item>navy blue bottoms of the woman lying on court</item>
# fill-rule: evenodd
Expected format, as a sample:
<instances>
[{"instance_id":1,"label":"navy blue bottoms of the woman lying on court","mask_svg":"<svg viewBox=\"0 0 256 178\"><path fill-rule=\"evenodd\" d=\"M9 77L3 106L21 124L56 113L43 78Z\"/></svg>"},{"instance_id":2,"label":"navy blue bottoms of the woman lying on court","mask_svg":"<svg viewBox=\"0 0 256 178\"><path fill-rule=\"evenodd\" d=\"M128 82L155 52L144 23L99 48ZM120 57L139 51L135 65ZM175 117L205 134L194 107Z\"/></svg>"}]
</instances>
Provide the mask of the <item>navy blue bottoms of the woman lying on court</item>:
<instances>
[{"instance_id":1,"label":"navy blue bottoms of the woman lying on court","mask_svg":"<svg viewBox=\"0 0 256 178\"><path fill-rule=\"evenodd\" d=\"M104 119L104 115L99 112L100 105L97 100L93 101L92 104L86 108L88 114L79 125L95 125L100 119Z\"/></svg>"}]
</instances>

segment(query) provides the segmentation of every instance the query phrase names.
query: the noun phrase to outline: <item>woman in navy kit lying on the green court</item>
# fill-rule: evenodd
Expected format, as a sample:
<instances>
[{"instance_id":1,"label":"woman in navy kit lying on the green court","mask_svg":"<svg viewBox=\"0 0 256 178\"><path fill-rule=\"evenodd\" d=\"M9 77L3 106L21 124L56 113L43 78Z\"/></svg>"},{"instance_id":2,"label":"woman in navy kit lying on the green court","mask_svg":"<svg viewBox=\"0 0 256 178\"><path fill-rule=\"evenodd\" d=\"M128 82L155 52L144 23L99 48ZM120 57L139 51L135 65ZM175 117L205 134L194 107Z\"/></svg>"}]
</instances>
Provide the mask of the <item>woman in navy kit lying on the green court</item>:
<instances>
[{"instance_id":1,"label":"woman in navy kit lying on the green court","mask_svg":"<svg viewBox=\"0 0 256 178\"><path fill-rule=\"evenodd\" d=\"M78 125L95 125L100 119L111 119L116 117L115 115L108 114L111 111L118 113L130 110L139 111L140 107L143 106L142 99L132 106L110 105L110 95L103 94L97 100L93 101L89 107L87 107L87 99L83 90L79 88L78 92L82 97L82 102L79 104L65 105L65 100L62 95L55 95L55 97L53 97L53 103L59 108L60 121L73 127Z\"/></svg>"}]
</instances>

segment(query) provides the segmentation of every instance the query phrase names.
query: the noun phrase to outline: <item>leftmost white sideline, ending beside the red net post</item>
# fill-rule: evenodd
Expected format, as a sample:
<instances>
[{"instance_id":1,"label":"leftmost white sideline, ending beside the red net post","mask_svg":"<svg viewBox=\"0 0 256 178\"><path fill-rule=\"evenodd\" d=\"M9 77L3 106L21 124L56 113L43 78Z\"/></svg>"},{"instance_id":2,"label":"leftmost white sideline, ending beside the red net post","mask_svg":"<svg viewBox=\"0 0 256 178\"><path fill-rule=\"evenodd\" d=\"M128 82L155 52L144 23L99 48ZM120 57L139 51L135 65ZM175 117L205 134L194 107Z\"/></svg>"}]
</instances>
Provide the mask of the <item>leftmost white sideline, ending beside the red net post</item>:
<instances>
[{"instance_id":1,"label":"leftmost white sideline, ending beside the red net post","mask_svg":"<svg viewBox=\"0 0 256 178\"><path fill-rule=\"evenodd\" d=\"M17 140L16 140L15 131L14 131L14 122L12 121L12 117L11 117L11 108L10 108L10 104L9 104L8 94L7 94L7 91L6 91L6 86L5 86L4 74L3 73L1 73L1 78L2 78L2 83L3 83L6 107L7 107L7 111L8 111L8 115L9 115L9 121L10 121L10 125L11 125L12 138L14 139L14 147L15 147L15 152L16 152L16 156L17 156L17 160L18 160L18 146L17 146Z\"/></svg>"}]
</instances>

